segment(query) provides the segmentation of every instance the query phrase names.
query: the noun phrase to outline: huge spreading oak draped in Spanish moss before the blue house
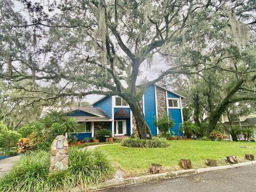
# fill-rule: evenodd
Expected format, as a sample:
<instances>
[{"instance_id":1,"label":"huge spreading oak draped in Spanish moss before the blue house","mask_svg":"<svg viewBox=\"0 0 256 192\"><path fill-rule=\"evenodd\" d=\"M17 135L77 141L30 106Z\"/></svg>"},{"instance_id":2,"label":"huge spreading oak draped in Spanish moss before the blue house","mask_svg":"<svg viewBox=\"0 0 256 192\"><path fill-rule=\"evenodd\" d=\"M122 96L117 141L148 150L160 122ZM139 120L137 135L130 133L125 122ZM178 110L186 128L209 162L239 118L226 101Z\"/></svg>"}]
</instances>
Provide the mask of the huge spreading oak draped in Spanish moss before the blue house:
<instances>
[{"instance_id":1,"label":"huge spreading oak draped in Spanish moss before the blue house","mask_svg":"<svg viewBox=\"0 0 256 192\"><path fill-rule=\"evenodd\" d=\"M4 2L12 5L7 0ZM139 104L148 85L170 74L200 75L205 70L222 70L218 62L209 63L207 57L201 57L198 50L193 50L195 44L200 47L205 39L202 31L195 30L198 21L203 21L201 27L203 23L210 23L202 29L209 33L234 26L237 27L234 30L244 31L240 23L255 23L250 14L255 11L253 1L69 0L50 2L45 6L26 0L20 2L30 21L13 10L7 11L19 17L10 18L6 13L5 27L12 33L10 36L16 31L30 30L33 42L30 49L23 47L25 55L19 55L20 51L12 54L12 49L5 51L4 56L1 54L1 77L11 82L33 79L50 83L53 89L46 92L49 97L33 97L36 100L82 98L89 94L118 95L129 103L142 139L150 133ZM229 22L230 18L233 23ZM215 25L214 19L223 20L223 26ZM246 34L244 31L243 36ZM228 45L233 41L234 46L243 49L236 33L228 36ZM232 39L232 36L236 38ZM11 47L12 41L20 40L11 39L6 45L9 43ZM206 44L206 49L215 49L214 42ZM186 57L186 53L197 56L197 60L191 62L193 57ZM218 54L221 55L215 52L214 57ZM150 68L154 55L165 59L165 70L156 79L145 79L137 86L137 78L143 73L141 66L146 62ZM221 55L220 59L227 58ZM164 66L163 63L155 65ZM8 70L6 66L9 66ZM42 92L38 87L33 90L19 88Z\"/></svg>"}]
</instances>

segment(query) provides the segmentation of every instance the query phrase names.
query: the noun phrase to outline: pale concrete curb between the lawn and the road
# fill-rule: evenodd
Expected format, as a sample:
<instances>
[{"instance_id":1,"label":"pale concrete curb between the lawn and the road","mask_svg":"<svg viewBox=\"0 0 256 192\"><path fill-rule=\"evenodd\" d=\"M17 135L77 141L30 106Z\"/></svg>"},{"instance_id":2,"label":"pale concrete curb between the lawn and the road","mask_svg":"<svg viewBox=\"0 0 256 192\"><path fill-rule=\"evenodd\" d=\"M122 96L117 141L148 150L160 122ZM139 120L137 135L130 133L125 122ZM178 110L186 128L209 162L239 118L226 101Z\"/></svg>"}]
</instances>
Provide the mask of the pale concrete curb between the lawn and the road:
<instances>
[{"instance_id":1,"label":"pale concrete curb between the lawn and the road","mask_svg":"<svg viewBox=\"0 0 256 192\"><path fill-rule=\"evenodd\" d=\"M98 183L97 186L91 186L89 190L102 190L102 189L107 189L111 187L121 187L121 186L139 184L143 182L157 181L161 179L177 178L177 177L181 177L185 175L187 176L191 174L234 169L234 168L253 165L253 164L256 164L256 161L243 162L243 163L238 163L233 165L222 165L222 166L215 166L215 167L200 168L197 170L189 169L189 170L172 171L167 173L144 175L141 177L127 178L127 179L116 180L116 181L106 181L103 183Z\"/></svg>"}]
</instances>

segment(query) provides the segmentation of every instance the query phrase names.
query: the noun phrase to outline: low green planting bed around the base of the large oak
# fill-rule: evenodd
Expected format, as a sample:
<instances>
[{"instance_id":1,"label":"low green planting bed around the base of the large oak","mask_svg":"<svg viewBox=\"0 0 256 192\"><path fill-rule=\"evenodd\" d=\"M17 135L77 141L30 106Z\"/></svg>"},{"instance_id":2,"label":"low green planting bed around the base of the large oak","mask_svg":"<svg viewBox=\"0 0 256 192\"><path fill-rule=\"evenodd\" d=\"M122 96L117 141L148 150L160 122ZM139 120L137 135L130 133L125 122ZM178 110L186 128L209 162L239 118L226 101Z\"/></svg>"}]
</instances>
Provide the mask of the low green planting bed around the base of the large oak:
<instances>
[{"instance_id":1,"label":"low green planting bed around the base of the large oak","mask_svg":"<svg viewBox=\"0 0 256 192\"><path fill-rule=\"evenodd\" d=\"M125 147L145 147L145 148L156 148L156 147L167 147L168 142L164 138L152 138L152 139L125 139L122 142L122 146Z\"/></svg>"}]
</instances>

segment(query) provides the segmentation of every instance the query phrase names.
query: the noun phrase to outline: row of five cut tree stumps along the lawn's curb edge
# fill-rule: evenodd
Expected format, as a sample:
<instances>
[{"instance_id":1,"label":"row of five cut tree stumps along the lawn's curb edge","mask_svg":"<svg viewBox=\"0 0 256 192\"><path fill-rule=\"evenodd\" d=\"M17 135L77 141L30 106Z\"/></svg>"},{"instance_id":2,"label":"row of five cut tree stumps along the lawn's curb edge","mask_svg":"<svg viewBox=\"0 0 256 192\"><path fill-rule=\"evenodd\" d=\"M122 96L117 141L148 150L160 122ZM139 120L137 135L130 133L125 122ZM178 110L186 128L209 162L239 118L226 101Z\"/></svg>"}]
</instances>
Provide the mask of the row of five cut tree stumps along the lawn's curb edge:
<instances>
[{"instance_id":1,"label":"row of five cut tree stumps along the lawn's curb edge","mask_svg":"<svg viewBox=\"0 0 256 192\"><path fill-rule=\"evenodd\" d=\"M235 155L227 156L226 158L230 164L238 163L238 159ZM250 161L254 161L254 155L252 155L252 154L245 154L245 158ZM189 159L180 159L179 165L181 166L182 169L185 169L185 170L192 169L192 164ZM211 167L217 166L217 160L206 159L206 165L211 166ZM160 164L151 163L151 165L150 165L150 172L153 174L160 173L161 169L162 169L162 165L160 165Z\"/></svg>"}]
</instances>

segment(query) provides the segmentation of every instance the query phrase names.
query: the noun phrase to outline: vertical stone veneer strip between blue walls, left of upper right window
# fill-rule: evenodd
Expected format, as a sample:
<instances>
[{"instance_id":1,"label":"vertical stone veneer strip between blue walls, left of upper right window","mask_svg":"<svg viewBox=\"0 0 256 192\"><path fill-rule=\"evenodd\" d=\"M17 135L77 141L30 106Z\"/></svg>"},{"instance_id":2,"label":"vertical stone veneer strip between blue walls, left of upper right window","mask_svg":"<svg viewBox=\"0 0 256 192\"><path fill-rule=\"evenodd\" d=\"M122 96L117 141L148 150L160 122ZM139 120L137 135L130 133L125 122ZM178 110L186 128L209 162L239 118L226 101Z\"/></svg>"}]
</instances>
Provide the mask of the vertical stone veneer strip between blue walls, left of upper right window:
<instances>
[{"instance_id":1,"label":"vertical stone veneer strip between blue walls, left of upper right window","mask_svg":"<svg viewBox=\"0 0 256 192\"><path fill-rule=\"evenodd\" d=\"M165 90L161 89L160 87L156 87L156 97L157 97L157 115L158 117L161 117L163 114L167 114Z\"/></svg>"}]
</instances>

